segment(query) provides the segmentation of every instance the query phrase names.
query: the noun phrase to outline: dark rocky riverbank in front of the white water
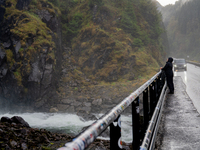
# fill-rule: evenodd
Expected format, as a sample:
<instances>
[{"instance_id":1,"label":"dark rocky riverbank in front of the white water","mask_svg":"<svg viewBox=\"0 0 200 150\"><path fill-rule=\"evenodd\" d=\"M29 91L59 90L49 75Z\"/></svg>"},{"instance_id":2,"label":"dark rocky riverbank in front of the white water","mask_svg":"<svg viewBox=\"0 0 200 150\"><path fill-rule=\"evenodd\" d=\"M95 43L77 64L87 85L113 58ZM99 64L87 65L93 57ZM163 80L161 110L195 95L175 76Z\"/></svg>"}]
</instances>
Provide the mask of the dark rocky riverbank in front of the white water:
<instances>
[{"instance_id":1,"label":"dark rocky riverbank in front of the white water","mask_svg":"<svg viewBox=\"0 0 200 150\"><path fill-rule=\"evenodd\" d=\"M64 146L74 137L53 133L46 129L31 128L20 116L2 117L0 120L0 148L6 150L53 150ZM124 150L131 146L123 143ZM96 139L88 150L109 150L109 140Z\"/></svg>"}]
</instances>

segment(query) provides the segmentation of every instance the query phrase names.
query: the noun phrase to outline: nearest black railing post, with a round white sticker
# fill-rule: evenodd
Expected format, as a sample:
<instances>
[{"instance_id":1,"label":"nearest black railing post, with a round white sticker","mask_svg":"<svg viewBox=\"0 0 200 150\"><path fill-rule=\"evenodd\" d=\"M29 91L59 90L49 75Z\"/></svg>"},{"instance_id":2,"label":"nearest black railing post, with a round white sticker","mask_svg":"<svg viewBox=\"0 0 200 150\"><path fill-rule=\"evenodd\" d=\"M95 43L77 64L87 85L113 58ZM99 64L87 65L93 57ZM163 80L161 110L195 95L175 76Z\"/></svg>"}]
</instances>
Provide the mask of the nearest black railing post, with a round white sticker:
<instances>
[{"instance_id":1,"label":"nearest black railing post, with a round white sticker","mask_svg":"<svg viewBox=\"0 0 200 150\"><path fill-rule=\"evenodd\" d=\"M110 124L110 150L121 150L121 117L120 115Z\"/></svg>"}]
</instances>

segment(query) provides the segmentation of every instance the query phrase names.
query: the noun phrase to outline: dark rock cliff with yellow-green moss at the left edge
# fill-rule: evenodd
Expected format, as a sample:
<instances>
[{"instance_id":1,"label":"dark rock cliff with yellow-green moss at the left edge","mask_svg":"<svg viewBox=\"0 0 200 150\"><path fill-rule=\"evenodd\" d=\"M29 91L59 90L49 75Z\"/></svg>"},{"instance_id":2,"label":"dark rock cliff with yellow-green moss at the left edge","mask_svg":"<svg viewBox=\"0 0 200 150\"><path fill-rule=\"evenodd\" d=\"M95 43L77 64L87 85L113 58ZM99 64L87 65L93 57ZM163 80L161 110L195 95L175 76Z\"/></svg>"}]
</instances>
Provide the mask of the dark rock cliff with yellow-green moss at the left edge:
<instances>
[{"instance_id":1,"label":"dark rock cliff with yellow-green moss at the left edge","mask_svg":"<svg viewBox=\"0 0 200 150\"><path fill-rule=\"evenodd\" d=\"M44 110L59 77L54 69L60 68L59 11L45 0L8 0L0 6L1 110L21 105Z\"/></svg>"}]
</instances>

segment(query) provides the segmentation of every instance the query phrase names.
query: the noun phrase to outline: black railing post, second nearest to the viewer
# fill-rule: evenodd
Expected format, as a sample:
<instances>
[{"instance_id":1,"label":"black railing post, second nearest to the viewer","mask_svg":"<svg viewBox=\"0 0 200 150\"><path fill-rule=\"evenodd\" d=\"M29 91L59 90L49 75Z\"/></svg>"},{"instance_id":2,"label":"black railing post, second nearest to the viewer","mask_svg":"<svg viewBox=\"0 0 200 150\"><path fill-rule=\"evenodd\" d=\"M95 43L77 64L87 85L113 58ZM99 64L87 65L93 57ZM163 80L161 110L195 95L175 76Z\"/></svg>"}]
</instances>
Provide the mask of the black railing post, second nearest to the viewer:
<instances>
[{"instance_id":1,"label":"black railing post, second nearest to the viewer","mask_svg":"<svg viewBox=\"0 0 200 150\"><path fill-rule=\"evenodd\" d=\"M140 126L140 108L139 108L139 97L136 98L135 101L132 102L132 127L133 127L133 142L132 147L133 150L137 150L140 146L140 134L139 134L139 126Z\"/></svg>"}]
</instances>

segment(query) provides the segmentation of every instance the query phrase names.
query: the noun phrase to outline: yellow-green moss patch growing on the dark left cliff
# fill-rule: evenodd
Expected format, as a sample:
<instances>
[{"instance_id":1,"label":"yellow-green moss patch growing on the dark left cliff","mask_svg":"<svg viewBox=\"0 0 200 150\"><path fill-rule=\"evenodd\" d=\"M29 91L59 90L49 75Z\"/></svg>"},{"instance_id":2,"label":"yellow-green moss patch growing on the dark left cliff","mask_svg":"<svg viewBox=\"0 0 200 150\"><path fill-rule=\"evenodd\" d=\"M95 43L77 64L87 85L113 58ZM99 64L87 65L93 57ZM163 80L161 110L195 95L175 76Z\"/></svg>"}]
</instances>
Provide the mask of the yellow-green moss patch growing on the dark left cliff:
<instances>
[{"instance_id":1,"label":"yellow-green moss patch growing on the dark left cliff","mask_svg":"<svg viewBox=\"0 0 200 150\"><path fill-rule=\"evenodd\" d=\"M23 77L28 76L31 72L31 63L40 53L47 53L46 60L55 61L55 43L52 41L52 31L39 18L37 11L46 9L51 15L56 15L58 9L45 0L32 1L26 10L16 9L17 0L6 1L7 19L12 18L10 24L12 35L20 41L19 58L16 58L14 50L6 50L9 68L17 64L14 75L18 85L22 86ZM48 7L46 7L48 5ZM14 45L15 47L15 45ZM46 47L44 49L44 47ZM13 54L11 54L13 53Z\"/></svg>"}]
</instances>

